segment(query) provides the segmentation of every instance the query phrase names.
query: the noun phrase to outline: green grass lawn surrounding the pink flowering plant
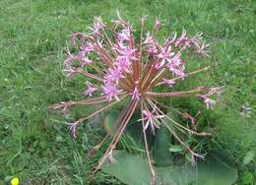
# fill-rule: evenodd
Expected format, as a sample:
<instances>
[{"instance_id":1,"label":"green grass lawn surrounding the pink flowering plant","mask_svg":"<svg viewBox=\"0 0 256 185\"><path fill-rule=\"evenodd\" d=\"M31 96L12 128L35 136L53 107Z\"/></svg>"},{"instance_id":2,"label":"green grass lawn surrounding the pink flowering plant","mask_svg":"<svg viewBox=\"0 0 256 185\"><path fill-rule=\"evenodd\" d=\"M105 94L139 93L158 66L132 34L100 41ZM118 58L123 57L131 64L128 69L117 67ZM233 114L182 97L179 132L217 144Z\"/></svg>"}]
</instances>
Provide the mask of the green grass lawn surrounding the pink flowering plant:
<instances>
[{"instance_id":1,"label":"green grass lawn surrounding the pink flowering plant","mask_svg":"<svg viewBox=\"0 0 256 185\"><path fill-rule=\"evenodd\" d=\"M216 126L215 142L233 154L240 171L237 184L242 184L246 174L255 173L253 163L242 165L247 152L256 152L254 0L1 0L0 184L12 175L23 184L88 184L96 158L88 158L87 151L97 136L80 128L74 142L65 120L49 114L47 106L83 97L84 81L62 74L68 36L86 31L94 16L110 21L116 9L135 28L142 15L149 15L150 22L160 17L164 32L204 32L212 50L206 61L212 80L206 82L225 88L219 106L201 116ZM246 102L250 118L240 115ZM83 112L75 111L73 119ZM118 181L96 175L95 184L111 183Z\"/></svg>"}]
</instances>

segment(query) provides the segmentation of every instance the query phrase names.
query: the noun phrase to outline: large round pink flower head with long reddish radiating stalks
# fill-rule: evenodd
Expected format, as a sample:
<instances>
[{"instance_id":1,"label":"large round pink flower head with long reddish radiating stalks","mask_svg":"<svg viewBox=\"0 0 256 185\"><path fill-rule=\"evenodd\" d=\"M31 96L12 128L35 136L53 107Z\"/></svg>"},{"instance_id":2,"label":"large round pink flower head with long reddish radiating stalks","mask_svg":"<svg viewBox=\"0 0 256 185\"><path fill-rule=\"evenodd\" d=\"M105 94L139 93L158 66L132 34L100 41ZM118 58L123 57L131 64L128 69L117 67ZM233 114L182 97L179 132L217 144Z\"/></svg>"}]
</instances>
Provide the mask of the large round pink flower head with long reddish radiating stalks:
<instances>
[{"instance_id":1,"label":"large round pink flower head with long reddish radiating stalks","mask_svg":"<svg viewBox=\"0 0 256 185\"><path fill-rule=\"evenodd\" d=\"M64 71L68 78L75 75L86 77L88 82L84 93L87 98L81 101L56 103L50 108L62 109L62 112L66 113L68 108L74 105L102 105L94 113L70 124L72 136L76 138L77 127L87 119L96 116L101 111L113 108L117 103L127 102L115 120L114 126L118 128L116 128L114 136L111 138L109 134L106 134L105 138L92 151L95 153L108 138L111 138L111 143L99 159L95 172L100 169L104 160L115 161L112 156L113 150L133 114L140 111L141 118L138 120L138 124L142 124L145 150L154 181L156 173L149 152L147 129L155 134L160 126L166 127L176 141L191 154L193 160L195 157L204 156L195 153L179 137L176 130L189 135L208 135L206 132L198 133L196 131L193 127L195 119L188 113L176 111L181 116L188 118L192 126L182 125L167 116L166 112L164 113L166 105L159 102L158 99L161 97L195 97L202 99L207 108L211 108L216 103L211 96L220 93L220 88L196 87L186 92L172 91L172 87L179 81L184 81L189 76L209 69L209 67L204 67L188 72L186 70L187 61L184 60L184 56L188 54L208 56L206 48L209 45L202 41L202 33L188 36L186 31L182 31L180 34L172 32L160 44L157 38L160 31L159 20L156 21L152 31L145 31L146 22L145 19L142 19L141 28L135 31L128 22L119 15L117 17L117 20L111 22L111 26L96 17L93 27L89 28L89 33L75 32L71 35L71 43L76 51L74 48L73 52L67 49ZM157 88L160 86L164 87L164 92Z\"/></svg>"}]
</instances>

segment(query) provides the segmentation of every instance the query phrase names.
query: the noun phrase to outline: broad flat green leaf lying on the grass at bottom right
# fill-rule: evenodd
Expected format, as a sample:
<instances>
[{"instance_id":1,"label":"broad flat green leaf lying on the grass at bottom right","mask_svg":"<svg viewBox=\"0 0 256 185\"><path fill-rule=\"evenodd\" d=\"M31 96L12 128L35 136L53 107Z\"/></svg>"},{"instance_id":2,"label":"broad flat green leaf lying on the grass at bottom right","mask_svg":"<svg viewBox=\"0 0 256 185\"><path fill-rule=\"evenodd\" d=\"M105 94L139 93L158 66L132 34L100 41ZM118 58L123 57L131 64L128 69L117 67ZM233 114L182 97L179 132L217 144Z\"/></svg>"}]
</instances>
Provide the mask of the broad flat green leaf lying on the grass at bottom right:
<instances>
[{"instance_id":1,"label":"broad flat green leaf lying on the grass at bottom right","mask_svg":"<svg viewBox=\"0 0 256 185\"><path fill-rule=\"evenodd\" d=\"M224 152L209 153L205 159L198 158L197 164L158 168L160 181L173 185L231 185L237 178L230 156Z\"/></svg>"}]
</instances>

